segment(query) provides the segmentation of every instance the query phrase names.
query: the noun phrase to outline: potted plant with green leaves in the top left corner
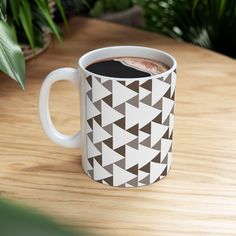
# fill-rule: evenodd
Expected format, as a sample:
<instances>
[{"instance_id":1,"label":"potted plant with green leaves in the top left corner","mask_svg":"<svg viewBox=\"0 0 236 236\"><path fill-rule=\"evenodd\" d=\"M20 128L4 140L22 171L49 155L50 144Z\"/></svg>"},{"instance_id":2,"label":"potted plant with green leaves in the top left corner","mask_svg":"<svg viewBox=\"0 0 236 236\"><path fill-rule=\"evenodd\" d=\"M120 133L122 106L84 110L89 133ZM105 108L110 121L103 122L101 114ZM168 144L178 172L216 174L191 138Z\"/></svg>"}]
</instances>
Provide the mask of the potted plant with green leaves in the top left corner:
<instances>
[{"instance_id":1,"label":"potted plant with green leaves in the top left corner","mask_svg":"<svg viewBox=\"0 0 236 236\"><path fill-rule=\"evenodd\" d=\"M67 25L60 0L0 1L0 71L23 89L25 59L42 52L50 43L51 33L61 40L53 21L55 6Z\"/></svg>"}]
</instances>

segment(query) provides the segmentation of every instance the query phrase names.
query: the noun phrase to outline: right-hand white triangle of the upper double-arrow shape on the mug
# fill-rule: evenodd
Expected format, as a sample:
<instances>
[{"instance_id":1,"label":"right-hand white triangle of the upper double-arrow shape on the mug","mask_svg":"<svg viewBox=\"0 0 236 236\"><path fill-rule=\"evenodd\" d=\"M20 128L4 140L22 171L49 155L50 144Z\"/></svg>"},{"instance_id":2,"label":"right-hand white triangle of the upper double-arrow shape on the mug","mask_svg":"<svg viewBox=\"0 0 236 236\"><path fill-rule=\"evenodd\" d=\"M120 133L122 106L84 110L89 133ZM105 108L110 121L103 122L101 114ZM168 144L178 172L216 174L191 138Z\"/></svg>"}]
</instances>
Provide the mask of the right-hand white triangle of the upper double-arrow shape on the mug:
<instances>
[{"instance_id":1,"label":"right-hand white triangle of the upper double-arrow shape on the mug","mask_svg":"<svg viewBox=\"0 0 236 236\"><path fill-rule=\"evenodd\" d=\"M160 110L148 106L142 102L139 103L139 111L139 128L142 128L143 126L150 123L156 116L161 113Z\"/></svg>"}]
</instances>

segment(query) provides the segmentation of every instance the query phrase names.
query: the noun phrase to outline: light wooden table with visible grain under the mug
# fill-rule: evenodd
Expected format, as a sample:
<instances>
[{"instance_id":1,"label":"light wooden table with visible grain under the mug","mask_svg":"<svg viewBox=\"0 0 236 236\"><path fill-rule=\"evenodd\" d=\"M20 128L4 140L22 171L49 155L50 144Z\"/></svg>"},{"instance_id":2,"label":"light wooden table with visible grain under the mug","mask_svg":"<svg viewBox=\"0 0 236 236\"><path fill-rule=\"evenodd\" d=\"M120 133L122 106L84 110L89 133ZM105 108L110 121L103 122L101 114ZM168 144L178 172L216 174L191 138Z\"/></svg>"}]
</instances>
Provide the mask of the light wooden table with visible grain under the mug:
<instances>
[{"instance_id":1,"label":"light wooden table with visible grain under the mug","mask_svg":"<svg viewBox=\"0 0 236 236\"><path fill-rule=\"evenodd\" d=\"M66 225L101 235L236 235L236 62L163 36L74 18L64 47L55 42L27 63L26 92L0 80L0 195L40 209ZM173 166L144 188L98 184L81 169L80 150L52 143L38 118L38 95L52 70L108 45L144 45L178 61ZM79 129L78 93L60 82L53 120Z\"/></svg>"}]
</instances>

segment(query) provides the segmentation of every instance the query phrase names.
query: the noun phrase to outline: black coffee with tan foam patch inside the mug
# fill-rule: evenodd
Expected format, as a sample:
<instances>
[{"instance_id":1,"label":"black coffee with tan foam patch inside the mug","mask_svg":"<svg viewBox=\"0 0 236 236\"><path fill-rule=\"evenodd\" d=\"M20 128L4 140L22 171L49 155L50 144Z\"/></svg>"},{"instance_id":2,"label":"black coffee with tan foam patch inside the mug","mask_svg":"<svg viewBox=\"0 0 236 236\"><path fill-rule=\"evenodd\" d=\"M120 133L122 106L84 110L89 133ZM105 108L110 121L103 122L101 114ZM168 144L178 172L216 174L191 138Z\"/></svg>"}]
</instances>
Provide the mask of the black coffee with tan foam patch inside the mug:
<instances>
[{"instance_id":1,"label":"black coffee with tan foam patch inside the mug","mask_svg":"<svg viewBox=\"0 0 236 236\"><path fill-rule=\"evenodd\" d=\"M86 69L103 76L140 78L163 73L169 67L162 62L141 57L117 57L96 61Z\"/></svg>"}]
</instances>

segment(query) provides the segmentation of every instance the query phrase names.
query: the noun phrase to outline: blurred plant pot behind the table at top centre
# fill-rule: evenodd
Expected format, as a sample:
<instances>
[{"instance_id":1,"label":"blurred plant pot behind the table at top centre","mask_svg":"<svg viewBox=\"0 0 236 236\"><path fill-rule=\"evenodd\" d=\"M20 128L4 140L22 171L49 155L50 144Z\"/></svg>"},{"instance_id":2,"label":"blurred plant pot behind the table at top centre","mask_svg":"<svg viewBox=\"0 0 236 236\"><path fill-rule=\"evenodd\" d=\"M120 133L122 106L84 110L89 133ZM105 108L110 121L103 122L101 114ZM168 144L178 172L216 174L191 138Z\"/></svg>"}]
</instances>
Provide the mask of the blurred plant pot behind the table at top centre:
<instances>
[{"instance_id":1,"label":"blurred plant pot behind the table at top centre","mask_svg":"<svg viewBox=\"0 0 236 236\"><path fill-rule=\"evenodd\" d=\"M135 0L98 0L90 15L124 25L140 27L143 25L143 10Z\"/></svg>"}]
</instances>

